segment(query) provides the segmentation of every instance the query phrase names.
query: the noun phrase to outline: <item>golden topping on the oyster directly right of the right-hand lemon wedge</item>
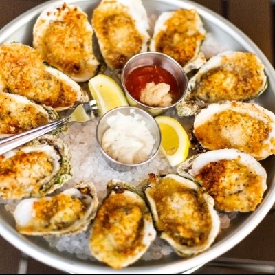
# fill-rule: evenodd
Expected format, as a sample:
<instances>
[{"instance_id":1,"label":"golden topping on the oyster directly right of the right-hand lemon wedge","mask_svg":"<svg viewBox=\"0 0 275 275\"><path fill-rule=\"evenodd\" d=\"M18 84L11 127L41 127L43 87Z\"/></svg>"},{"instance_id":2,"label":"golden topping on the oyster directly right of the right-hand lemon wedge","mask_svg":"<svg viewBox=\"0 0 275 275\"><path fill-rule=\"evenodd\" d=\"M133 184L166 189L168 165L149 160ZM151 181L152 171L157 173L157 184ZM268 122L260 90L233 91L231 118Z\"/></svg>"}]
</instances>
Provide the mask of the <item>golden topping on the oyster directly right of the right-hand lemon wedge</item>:
<instances>
[{"instance_id":1,"label":"golden topping on the oyster directly right of the right-hand lemon wedge","mask_svg":"<svg viewBox=\"0 0 275 275\"><path fill-rule=\"evenodd\" d=\"M228 109L212 115L210 120L197 126L194 134L209 150L236 148L256 157L261 155L263 149L270 147L263 144L263 140L272 131L271 126L249 114Z\"/></svg>"}]
</instances>

